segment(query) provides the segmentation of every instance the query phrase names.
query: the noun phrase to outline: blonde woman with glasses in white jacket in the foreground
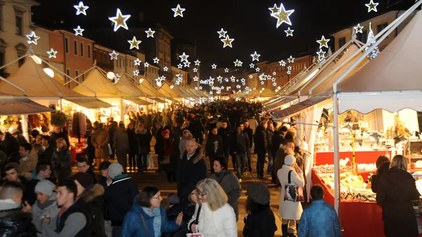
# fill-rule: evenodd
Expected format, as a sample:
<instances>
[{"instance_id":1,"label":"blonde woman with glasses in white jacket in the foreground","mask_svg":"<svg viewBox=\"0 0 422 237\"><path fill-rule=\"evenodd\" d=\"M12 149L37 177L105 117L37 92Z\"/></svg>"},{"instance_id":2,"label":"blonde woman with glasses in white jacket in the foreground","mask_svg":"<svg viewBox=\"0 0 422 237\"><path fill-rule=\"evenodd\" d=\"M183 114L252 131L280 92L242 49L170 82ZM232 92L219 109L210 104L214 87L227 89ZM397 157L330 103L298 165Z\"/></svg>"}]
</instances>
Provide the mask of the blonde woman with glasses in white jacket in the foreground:
<instances>
[{"instance_id":1,"label":"blonde woman with glasses in white jacket in the foreground","mask_svg":"<svg viewBox=\"0 0 422 237\"><path fill-rule=\"evenodd\" d=\"M203 179L196 189L200 205L196 204L195 213L187 224L191 232L201 232L207 237L238 236L236 215L227 203L227 194L214 179Z\"/></svg>"}]
</instances>

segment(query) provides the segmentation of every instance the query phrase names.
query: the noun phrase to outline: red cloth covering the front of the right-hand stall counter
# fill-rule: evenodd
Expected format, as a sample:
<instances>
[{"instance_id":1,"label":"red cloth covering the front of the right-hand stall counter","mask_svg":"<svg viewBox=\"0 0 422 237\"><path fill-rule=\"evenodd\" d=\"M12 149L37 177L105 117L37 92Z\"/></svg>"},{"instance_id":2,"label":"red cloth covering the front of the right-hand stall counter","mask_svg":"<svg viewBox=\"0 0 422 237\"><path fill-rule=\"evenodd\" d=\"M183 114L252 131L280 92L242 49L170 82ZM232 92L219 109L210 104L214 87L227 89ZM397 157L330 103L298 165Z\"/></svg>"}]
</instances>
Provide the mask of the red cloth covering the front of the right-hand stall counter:
<instances>
[{"instance_id":1,"label":"red cloth covering the front of the right-hand stall counter","mask_svg":"<svg viewBox=\"0 0 422 237\"><path fill-rule=\"evenodd\" d=\"M313 169L312 184L321 184L325 194L324 200L334 206L334 189L326 185ZM382 208L376 202L341 201L340 222L344 227L344 237L385 236Z\"/></svg>"}]
</instances>

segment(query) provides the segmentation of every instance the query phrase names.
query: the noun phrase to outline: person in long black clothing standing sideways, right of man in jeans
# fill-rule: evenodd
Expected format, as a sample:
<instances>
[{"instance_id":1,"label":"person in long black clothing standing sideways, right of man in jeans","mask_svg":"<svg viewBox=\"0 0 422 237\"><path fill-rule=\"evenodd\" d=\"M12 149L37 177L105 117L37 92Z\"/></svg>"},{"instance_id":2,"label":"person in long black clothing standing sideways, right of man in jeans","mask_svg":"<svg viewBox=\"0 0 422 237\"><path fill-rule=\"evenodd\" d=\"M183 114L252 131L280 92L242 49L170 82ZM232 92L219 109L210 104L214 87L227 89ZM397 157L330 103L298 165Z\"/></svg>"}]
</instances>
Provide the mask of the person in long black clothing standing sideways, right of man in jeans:
<instances>
[{"instance_id":1,"label":"person in long black clothing standing sideways, right of man in jeans","mask_svg":"<svg viewBox=\"0 0 422 237\"><path fill-rule=\"evenodd\" d=\"M255 153L257 154L256 172L258 179L264 178L265 154L267 154L267 121L261 121L255 131Z\"/></svg>"}]
</instances>

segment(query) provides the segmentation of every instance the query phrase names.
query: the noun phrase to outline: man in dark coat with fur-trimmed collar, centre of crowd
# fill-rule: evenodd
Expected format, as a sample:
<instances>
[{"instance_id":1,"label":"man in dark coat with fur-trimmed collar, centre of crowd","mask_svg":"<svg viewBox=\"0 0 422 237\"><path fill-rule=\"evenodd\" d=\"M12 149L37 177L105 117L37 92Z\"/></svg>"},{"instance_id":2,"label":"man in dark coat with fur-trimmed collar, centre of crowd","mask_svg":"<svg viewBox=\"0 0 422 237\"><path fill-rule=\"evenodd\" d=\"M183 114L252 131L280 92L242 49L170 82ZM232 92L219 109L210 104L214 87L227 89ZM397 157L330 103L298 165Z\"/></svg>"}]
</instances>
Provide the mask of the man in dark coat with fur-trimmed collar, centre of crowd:
<instances>
[{"instance_id":1,"label":"man in dark coat with fur-trimmed collar, centre of crowd","mask_svg":"<svg viewBox=\"0 0 422 237\"><path fill-rule=\"evenodd\" d=\"M177 195L180 200L188 198L196 183L206 178L206 162L202 159L202 146L195 139L186 141L186 151L177 168Z\"/></svg>"}]
</instances>

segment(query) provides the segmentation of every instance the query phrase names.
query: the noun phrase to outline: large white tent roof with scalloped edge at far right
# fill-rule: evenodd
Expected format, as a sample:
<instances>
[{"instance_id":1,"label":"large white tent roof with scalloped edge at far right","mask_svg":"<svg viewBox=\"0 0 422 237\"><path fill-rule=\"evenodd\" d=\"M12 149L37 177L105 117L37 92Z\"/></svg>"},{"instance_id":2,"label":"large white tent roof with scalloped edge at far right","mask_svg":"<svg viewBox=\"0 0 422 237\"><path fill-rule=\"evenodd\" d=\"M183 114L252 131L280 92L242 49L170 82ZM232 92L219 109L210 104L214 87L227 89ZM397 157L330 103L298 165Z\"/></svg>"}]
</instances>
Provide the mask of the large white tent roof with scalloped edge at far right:
<instances>
[{"instance_id":1,"label":"large white tent roof with scalloped edge at far right","mask_svg":"<svg viewBox=\"0 0 422 237\"><path fill-rule=\"evenodd\" d=\"M422 111L421 42L419 11L370 64L338 84L339 113L348 109L368 113L377 108Z\"/></svg>"}]
</instances>

